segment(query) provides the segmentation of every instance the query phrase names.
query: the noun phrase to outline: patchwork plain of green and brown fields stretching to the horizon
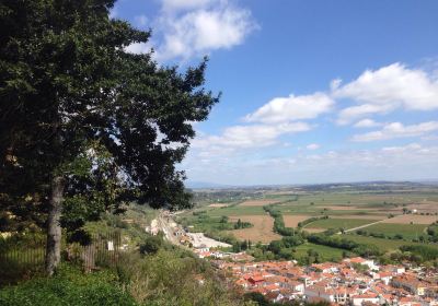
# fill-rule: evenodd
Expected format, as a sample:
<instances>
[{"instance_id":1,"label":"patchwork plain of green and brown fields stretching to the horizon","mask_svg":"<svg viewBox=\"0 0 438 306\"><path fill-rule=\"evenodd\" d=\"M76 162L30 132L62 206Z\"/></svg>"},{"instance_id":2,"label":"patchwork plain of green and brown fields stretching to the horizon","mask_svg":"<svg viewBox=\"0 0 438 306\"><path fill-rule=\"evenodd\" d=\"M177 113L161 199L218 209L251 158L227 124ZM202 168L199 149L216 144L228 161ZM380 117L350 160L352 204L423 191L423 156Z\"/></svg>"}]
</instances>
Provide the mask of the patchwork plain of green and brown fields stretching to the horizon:
<instances>
[{"instance_id":1,"label":"patchwork plain of green and brown fields stretching to the horizon","mask_svg":"<svg viewBox=\"0 0 438 306\"><path fill-rule=\"evenodd\" d=\"M223 197L221 196L223 195ZM201 204L195 211L204 211L212 224L204 223L204 227L231 233L238 239L251 239L269 243L280 238L273 232L273 219L264 210L273 205L283 215L286 227L297 227L299 222L310 217L328 216L307 224L309 233L319 233L328 228L355 228L362 225L368 234L385 235L389 246L413 244L413 239L426 235L428 224L438 220L438 188L410 183L362 184L342 186L310 186L285 188L243 188L209 190L201 193ZM208 200L210 199L210 201ZM418 212L415 214L415 211ZM406 213L407 212L407 213ZM437 215L436 215L437 213ZM192 211L183 214L189 220ZM254 226L251 228L232 229L218 224L228 216L230 222L241 219ZM410 223L413 224L410 224ZM193 224L195 225L195 224ZM200 224L196 224L199 228ZM220 229L222 226L223 228ZM376 237L349 235L354 239L374 239ZM394 236L403 236L403 240L394 240ZM396 247L395 247L396 248Z\"/></svg>"}]
</instances>

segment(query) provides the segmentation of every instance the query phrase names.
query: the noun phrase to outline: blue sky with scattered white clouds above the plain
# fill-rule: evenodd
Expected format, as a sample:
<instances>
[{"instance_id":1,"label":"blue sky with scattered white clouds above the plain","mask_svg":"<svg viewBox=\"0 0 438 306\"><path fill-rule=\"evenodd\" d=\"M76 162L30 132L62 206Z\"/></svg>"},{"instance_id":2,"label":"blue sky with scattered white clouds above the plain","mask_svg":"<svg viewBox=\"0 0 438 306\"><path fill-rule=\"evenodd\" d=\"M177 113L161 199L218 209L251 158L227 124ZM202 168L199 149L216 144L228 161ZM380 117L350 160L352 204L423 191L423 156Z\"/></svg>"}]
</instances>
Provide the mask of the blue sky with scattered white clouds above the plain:
<instances>
[{"instance_id":1,"label":"blue sky with scattered white clouds above the plain","mask_svg":"<svg viewBox=\"0 0 438 306\"><path fill-rule=\"evenodd\" d=\"M438 1L119 0L114 17L222 92L180 165L192 181L438 178Z\"/></svg>"}]
</instances>

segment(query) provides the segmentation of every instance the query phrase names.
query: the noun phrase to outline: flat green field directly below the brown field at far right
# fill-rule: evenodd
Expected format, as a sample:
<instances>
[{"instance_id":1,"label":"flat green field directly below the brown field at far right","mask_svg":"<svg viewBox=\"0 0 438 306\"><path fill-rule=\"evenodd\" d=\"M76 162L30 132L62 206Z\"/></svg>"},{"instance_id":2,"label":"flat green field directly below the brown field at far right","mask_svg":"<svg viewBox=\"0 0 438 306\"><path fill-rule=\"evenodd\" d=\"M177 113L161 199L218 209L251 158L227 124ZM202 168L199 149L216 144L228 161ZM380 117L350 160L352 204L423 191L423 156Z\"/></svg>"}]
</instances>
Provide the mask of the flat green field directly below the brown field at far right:
<instances>
[{"instance_id":1,"label":"flat green field directly below the brown field at far right","mask_svg":"<svg viewBox=\"0 0 438 306\"><path fill-rule=\"evenodd\" d=\"M387 236L394 236L396 234L403 235L404 239L415 239L425 235L426 224L387 224L379 223L368 227L364 231L368 233L381 233Z\"/></svg>"}]
</instances>

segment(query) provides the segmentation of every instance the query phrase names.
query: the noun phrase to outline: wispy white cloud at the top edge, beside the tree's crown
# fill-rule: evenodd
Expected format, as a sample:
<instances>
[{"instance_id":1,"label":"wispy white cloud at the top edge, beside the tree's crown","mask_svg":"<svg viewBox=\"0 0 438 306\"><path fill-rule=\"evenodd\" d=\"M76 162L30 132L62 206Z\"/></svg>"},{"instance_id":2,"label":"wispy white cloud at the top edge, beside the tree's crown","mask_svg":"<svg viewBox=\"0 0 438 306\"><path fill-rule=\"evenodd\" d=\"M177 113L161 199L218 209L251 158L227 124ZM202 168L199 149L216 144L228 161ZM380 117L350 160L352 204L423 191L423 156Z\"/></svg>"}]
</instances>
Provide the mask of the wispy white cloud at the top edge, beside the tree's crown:
<instances>
[{"instance_id":1,"label":"wispy white cloud at the top edge, beside the tree's crown","mask_svg":"<svg viewBox=\"0 0 438 306\"><path fill-rule=\"evenodd\" d=\"M230 49L257 27L249 10L221 0L165 0L163 12L157 22L162 36L157 58L162 61L188 60L212 50Z\"/></svg>"}]
</instances>

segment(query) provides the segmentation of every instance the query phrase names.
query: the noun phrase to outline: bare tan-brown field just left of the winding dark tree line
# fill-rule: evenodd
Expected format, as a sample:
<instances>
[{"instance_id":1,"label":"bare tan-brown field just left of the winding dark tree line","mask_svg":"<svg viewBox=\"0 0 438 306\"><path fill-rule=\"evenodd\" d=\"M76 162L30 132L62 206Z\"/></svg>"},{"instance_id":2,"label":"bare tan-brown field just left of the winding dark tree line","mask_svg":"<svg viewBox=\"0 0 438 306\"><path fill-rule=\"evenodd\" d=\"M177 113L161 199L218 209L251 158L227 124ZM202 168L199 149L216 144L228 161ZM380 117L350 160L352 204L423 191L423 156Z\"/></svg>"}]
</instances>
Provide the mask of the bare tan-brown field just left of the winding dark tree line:
<instances>
[{"instance_id":1,"label":"bare tan-brown field just left of the winding dark tree line","mask_svg":"<svg viewBox=\"0 0 438 306\"><path fill-rule=\"evenodd\" d=\"M251 228L229 231L229 233L233 234L240 240L270 243L272 240L278 240L281 238L280 235L273 232L274 219L269 215L230 216L230 221L232 222L235 222L239 219L242 222L250 222L254 225Z\"/></svg>"}]
</instances>

